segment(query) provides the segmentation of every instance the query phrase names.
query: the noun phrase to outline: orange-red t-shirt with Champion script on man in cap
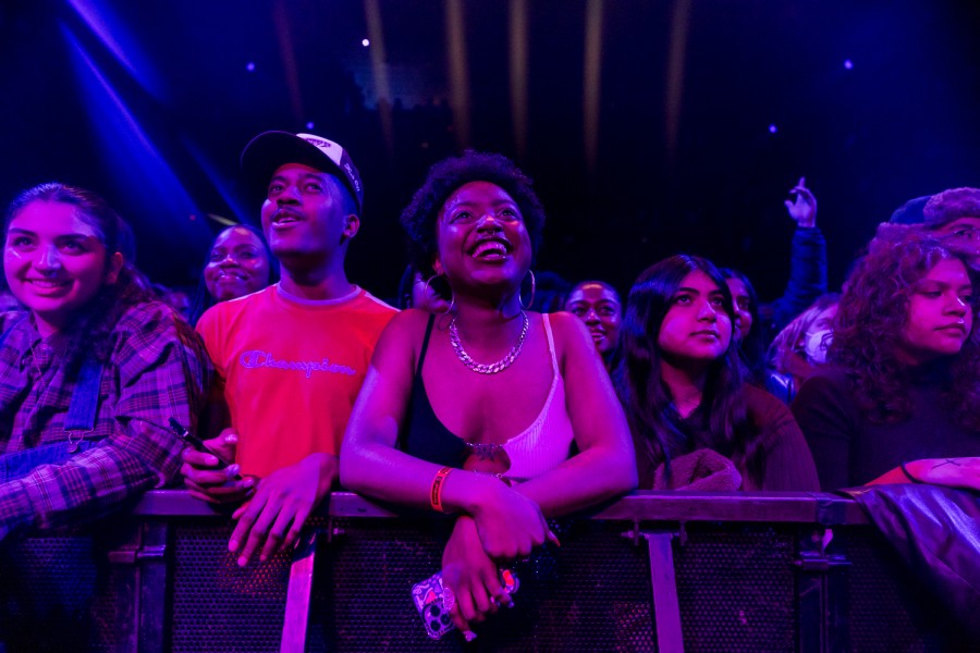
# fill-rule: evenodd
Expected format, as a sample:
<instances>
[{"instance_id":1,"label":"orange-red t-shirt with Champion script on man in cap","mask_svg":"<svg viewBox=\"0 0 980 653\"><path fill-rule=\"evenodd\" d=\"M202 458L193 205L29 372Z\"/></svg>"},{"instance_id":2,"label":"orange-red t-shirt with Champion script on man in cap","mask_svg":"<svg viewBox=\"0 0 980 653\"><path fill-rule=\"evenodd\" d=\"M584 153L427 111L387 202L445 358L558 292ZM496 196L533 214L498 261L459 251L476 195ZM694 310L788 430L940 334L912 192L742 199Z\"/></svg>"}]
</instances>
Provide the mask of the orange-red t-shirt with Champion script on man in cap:
<instances>
[{"instance_id":1,"label":"orange-red t-shirt with Champion script on man in cap","mask_svg":"<svg viewBox=\"0 0 980 653\"><path fill-rule=\"evenodd\" d=\"M242 473L336 455L378 336L395 309L366 291L309 301L279 285L223 301L197 323L238 433Z\"/></svg>"}]
</instances>

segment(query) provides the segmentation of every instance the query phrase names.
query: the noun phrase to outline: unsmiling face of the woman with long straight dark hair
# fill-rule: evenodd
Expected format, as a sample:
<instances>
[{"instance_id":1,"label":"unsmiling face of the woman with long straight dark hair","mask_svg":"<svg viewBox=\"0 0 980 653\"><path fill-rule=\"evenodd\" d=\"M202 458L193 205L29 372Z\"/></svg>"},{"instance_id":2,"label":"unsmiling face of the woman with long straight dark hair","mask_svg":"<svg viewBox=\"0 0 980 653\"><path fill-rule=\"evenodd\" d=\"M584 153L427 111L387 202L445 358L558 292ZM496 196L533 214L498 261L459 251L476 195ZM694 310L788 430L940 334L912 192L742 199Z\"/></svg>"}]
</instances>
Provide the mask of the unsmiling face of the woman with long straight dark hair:
<instances>
[{"instance_id":1,"label":"unsmiling face of the woman with long straight dark hair","mask_svg":"<svg viewBox=\"0 0 980 653\"><path fill-rule=\"evenodd\" d=\"M724 356L731 342L724 295L710 276L695 270L681 282L660 324L662 357L675 368L699 370Z\"/></svg>"}]
</instances>

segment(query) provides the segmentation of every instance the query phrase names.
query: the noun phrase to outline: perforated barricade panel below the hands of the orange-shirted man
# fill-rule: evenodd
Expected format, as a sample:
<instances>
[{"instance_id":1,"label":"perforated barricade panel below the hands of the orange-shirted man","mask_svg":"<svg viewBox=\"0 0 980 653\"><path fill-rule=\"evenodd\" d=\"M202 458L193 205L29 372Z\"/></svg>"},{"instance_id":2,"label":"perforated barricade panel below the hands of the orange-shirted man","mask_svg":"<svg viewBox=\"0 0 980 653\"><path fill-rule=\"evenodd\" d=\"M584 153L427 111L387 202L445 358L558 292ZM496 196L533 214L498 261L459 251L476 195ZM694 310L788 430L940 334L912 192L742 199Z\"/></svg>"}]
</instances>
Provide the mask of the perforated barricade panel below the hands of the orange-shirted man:
<instances>
[{"instance_id":1,"label":"perforated barricade panel below the hands of the orange-shirted man","mask_svg":"<svg viewBox=\"0 0 980 653\"><path fill-rule=\"evenodd\" d=\"M279 651L290 555L242 569L228 551L232 530L213 520L174 528L173 653Z\"/></svg>"}]
</instances>

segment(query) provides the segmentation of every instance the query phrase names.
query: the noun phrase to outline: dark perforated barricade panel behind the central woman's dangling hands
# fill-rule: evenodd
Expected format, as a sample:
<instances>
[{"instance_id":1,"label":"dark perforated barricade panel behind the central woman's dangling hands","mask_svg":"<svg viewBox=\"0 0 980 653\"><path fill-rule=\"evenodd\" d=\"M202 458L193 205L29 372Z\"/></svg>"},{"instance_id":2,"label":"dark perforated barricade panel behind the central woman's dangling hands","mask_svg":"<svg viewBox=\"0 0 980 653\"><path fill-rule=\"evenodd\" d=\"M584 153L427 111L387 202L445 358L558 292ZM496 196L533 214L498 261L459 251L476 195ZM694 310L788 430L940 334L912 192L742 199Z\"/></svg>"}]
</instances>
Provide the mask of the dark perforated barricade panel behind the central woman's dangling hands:
<instances>
[{"instance_id":1,"label":"dark perforated barricade panel behind the central woman's dangling hands","mask_svg":"<svg viewBox=\"0 0 980 653\"><path fill-rule=\"evenodd\" d=\"M395 521L339 522L314 615L311 651L456 651L463 639L426 634L411 599L414 583L441 567L438 527ZM622 529L622 527L620 527ZM477 629L467 651L652 651L645 546L608 525L560 529L558 551L515 565L517 606ZM333 588L333 601L326 595ZM332 603L332 606L331 606ZM319 618L322 617L322 618Z\"/></svg>"}]
</instances>

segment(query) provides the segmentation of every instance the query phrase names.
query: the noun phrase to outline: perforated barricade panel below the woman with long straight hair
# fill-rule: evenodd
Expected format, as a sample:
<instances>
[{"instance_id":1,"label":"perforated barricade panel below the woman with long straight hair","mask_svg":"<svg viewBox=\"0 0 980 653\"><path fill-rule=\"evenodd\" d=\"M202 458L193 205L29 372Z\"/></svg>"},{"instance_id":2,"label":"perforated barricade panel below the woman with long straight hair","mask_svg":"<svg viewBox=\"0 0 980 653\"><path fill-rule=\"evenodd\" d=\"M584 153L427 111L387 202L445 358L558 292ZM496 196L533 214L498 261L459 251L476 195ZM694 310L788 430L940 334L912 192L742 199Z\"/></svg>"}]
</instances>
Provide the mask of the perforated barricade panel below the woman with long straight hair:
<instances>
[{"instance_id":1,"label":"perforated barricade panel below the woman with long straight hair","mask_svg":"<svg viewBox=\"0 0 980 653\"><path fill-rule=\"evenodd\" d=\"M796 529L690 525L674 549L685 651L795 651Z\"/></svg>"}]
</instances>

